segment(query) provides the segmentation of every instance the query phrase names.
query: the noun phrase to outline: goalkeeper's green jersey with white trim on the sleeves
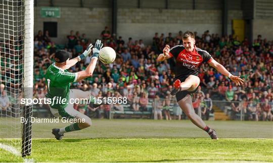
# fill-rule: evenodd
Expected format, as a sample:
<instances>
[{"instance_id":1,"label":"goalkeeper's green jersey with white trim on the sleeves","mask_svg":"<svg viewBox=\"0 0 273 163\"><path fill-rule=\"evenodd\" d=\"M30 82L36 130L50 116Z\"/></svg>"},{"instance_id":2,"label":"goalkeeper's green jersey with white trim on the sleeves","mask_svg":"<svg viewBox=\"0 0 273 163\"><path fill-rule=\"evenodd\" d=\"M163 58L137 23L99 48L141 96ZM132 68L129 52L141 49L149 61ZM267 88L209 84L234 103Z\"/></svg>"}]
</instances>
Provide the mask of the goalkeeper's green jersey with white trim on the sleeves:
<instances>
[{"instance_id":1,"label":"goalkeeper's green jersey with white trim on the sleeves","mask_svg":"<svg viewBox=\"0 0 273 163\"><path fill-rule=\"evenodd\" d=\"M45 82L48 86L48 93L45 95L47 98L51 98L51 108L64 109L69 102L69 89L70 83L77 80L77 73L70 73L67 70L62 70L61 68L52 64L47 69L45 73ZM55 102L53 103L53 98L55 97ZM66 99L65 104L61 102L56 102L56 99L60 98Z\"/></svg>"}]
</instances>

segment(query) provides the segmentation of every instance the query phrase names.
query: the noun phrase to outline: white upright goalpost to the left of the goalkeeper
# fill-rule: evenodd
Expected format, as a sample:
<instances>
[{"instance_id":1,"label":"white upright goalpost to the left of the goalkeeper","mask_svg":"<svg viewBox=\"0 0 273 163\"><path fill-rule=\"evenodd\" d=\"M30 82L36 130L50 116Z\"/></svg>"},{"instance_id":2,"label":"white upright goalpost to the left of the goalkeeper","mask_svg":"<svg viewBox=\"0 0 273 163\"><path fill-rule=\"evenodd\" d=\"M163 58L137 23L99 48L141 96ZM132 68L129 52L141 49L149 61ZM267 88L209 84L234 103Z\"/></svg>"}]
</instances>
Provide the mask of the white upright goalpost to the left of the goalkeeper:
<instances>
[{"instance_id":1,"label":"white upright goalpost to the left of the goalkeeper","mask_svg":"<svg viewBox=\"0 0 273 163\"><path fill-rule=\"evenodd\" d=\"M34 3L33 0L25 0L25 21L24 21L24 97L32 98L33 93L33 40L34 40ZM32 125L32 105L23 106L23 117L29 119L27 124L23 124L22 130L22 156L31 154L31 131Z\"/></svg>"}]
</instances>

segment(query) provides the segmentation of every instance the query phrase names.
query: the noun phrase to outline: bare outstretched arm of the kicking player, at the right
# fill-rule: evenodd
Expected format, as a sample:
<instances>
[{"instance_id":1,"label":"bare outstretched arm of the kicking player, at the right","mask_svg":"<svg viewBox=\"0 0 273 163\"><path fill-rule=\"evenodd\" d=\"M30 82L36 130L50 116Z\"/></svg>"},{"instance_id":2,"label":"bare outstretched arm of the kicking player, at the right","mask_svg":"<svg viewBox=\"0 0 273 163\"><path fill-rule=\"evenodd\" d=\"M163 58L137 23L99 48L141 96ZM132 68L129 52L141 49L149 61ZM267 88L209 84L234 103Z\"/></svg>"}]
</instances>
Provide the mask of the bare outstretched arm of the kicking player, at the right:
<instances>
[{"instance_id":1,"label":"bare outstretched arm of the kicking player, at the right","mask_svg":"<svg viewBox=\"0 0 273 163\"><path fill-rule=\"evenodd\" d=\"M219 73L223 74L224 76L229 77L232 81L236 83L236 85L243 85L244 80L241 79L239 76L232 75L228 70L226 70L221 64L217 61L212 59L209 63L210 66L214 67Z\"/></svg>"}]
</instances>

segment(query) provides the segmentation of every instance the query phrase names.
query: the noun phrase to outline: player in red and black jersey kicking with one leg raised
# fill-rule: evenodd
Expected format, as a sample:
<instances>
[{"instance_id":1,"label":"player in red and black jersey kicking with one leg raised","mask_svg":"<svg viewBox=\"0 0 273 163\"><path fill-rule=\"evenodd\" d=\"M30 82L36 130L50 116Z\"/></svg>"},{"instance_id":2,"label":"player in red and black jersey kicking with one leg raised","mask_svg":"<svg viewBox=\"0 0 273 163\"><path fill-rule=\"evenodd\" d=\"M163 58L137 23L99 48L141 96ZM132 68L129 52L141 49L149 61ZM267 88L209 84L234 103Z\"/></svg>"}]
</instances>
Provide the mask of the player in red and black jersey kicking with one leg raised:
<instances>
[{"instance_id":1,"label":"player in red and black jersey kicking with one leg raised","mask_svg":"<svg viewBox=\"0 0 273 163\"><path fill-rule=\"evenodd\" d=\"M202 63L208 63L224 76L229 77L237 85L243 84L243 80L238 76L232 75L221 64L213 60L206 50L195 46L193 32L187 31L183 34L183 45L176 45L170 48L166 45L157 60L164 61L174 57L175 64L175 82L173 84L172 95L189 117L189 119L199 128L205 130L211 139L218 139L215 130L209 128L204 121L194 112L191 93L196 92L200 79L198 77Z\"/></svg>"}]
</instances>

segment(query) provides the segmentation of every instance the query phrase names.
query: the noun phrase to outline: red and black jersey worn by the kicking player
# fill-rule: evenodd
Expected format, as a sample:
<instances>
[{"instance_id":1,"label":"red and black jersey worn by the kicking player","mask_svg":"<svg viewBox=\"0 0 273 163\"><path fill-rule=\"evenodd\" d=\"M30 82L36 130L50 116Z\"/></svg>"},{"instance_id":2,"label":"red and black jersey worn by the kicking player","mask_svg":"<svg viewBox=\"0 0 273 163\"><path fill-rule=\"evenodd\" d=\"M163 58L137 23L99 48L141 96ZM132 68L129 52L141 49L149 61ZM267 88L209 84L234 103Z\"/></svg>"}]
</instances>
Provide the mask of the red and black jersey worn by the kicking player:
<instances>
[{"instance_id":1,"label":"red and black jersey worn by the kicking player","mask_svg":"<svg viewBox=\"0 0 273 163\"><path fill-rule=\"evenodd\" d=\"M184 45L176 45L170 48L169 56L175 59L175 78L198 76L202 63L209 63L212 57L206 50L195 47L189 52Z\"/></svg>"}]
</instances>

